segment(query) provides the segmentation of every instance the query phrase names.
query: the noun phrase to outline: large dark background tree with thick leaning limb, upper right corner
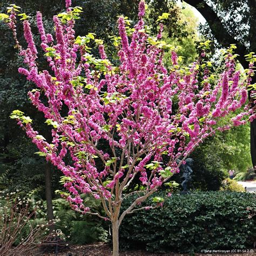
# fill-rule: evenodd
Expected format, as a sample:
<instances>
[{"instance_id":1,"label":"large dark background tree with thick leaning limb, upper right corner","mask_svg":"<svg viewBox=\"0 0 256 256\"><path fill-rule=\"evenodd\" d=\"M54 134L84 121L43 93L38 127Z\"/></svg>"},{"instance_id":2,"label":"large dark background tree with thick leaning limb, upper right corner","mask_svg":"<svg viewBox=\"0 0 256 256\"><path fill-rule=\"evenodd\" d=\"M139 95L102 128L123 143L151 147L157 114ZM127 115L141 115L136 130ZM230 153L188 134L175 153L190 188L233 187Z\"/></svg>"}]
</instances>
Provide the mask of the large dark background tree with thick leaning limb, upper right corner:
<instances>
[{"instance_id":1,"label":"large dark background tree with thick leaning limb, upper right corner","mask_svg":"<svg viewBox=\"0 0 256 256\"><path fill-rule=\"evenodd\" d=\"M194 6L204 16L221 46L237 45L239 62L246 69L248 62L244 56L249 52L256 52L255 0L186 0L185 2ZM252 79L252 83L255 83L256 78ZM253 166L256 166L256 120L251 123L251 158Z\"/></svg>"}]
</instances>

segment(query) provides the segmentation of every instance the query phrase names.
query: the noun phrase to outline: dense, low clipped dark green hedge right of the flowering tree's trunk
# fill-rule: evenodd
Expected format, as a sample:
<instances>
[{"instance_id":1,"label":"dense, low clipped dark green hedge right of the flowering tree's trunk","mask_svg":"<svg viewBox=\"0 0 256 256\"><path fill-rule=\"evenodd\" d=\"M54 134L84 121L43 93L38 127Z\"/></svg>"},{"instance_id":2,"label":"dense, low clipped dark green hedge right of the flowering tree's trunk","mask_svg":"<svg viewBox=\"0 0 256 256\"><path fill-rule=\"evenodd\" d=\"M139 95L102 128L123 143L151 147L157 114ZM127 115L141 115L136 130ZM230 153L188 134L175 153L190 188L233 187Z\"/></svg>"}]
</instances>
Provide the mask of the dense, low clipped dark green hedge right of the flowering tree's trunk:
<instances>
[{"instance_id":1,"label":"dense, low clipped dark green hedge right of the flowering tree's trunk","mask_svg":"<svg viewBox=\"0 0 256 256\"><path fill-rule=\"evenodd\" d=\"M120 248L157 253L251 248L256 238L256 216L250 218L253 213L255 194L174 194L161 208L126 215L119 231Z\"/></svg>"}]
</instances>

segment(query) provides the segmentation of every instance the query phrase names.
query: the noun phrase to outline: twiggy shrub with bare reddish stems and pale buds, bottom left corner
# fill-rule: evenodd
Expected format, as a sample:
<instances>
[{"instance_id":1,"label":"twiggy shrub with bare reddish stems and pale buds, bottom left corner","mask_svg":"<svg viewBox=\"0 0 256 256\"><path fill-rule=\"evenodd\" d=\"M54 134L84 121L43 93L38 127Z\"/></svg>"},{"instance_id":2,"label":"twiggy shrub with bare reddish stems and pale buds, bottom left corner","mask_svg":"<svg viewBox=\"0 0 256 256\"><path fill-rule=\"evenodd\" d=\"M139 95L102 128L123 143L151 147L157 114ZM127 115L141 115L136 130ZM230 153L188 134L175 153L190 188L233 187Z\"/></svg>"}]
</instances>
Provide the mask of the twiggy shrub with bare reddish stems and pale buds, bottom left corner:
<instances>
[{"instance_id":1,"label":"twiggy shrub with bare reddish stems and pale buds, bottom left corner","mask_svg":"<svg viewBox=\"0 0 256 256\"><path fill-rule=\"evenodd\" d=\"M22 193L0 191L0 255L31 255L49 241L48 221L41 201Z\"/></svg>"}]
</instances>

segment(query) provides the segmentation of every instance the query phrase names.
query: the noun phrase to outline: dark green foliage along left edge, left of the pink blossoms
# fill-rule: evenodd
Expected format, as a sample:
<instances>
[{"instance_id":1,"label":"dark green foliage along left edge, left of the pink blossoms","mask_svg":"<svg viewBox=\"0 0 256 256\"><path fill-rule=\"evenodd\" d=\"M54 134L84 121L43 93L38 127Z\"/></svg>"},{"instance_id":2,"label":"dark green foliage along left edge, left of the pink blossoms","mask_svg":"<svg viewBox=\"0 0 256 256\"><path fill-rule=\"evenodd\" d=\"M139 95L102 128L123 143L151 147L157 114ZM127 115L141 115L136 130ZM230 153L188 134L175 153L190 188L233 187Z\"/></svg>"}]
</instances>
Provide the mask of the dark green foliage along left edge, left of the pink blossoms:
<instances>
[{"instance_id":1,"label":"dark green foliage along left edge, left of the pink blossoms","mask_svg":"<svg viewBox=\"0 0 256 256\"><path fill-rule=\"evenodd\" d=\"M16 4L22 6L23 12L32 17L32 30L38 35L35 28L36 10L43 11L46 21L45 28L47 31L53 31L52 22L49 21L48 17L52 16L56 10L61 10L58 6L60 2L64 4L64 1L54 1L53 3L49 0L36 3L35 1L26 1L26 4L24 4L24 1L17 0ZM10 3L12 2L2 1L0 12L5 12L6 6ZM18 56L17 49L14 47L12 33L3 22L0 23L0 29L2 45L0 49L0 175L4 175L4 180L0 180L0 186L8 188L9 191L15 191L16 189L25 192L36 190L41 197L44 197L45 160L36 157L34 153L38 150L35 145L32 145L31 140L26 138L25 132L9 116L12 110L21 109L33 117L36 129L38 129L39 123L44 122L42 122L42 116L38 114L28 100L27 93L33 89L34 85L27 82L25 77L18 73L18 67L23 64L22 58ZM22 37L22 26L19 22L17 33L19 42L26 45ZM38 43L38 37L36 37L36 42ZM38 60L38 64L43 65L41 59ZM50 134L46 125L41 125L39 131L43 132L46 138L47 134ZM58 172L55 171L56 173ZM59 174L57 174L58 176ZM53 177L53 183L53 190L55 190L59 186L58 180L56 183L56 177Z\"/></svg>"}]
</instances>

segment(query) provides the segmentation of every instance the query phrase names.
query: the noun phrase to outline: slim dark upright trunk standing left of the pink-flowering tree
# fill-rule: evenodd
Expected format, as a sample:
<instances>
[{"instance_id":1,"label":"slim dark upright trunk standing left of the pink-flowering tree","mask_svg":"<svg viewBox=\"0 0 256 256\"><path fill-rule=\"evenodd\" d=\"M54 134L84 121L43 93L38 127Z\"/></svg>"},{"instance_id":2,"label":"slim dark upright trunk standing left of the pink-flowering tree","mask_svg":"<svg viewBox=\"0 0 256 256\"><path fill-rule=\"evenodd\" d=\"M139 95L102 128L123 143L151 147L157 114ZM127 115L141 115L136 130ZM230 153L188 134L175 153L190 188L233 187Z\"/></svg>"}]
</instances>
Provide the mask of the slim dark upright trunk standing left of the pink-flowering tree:
<instances>
[{"instance_id":1,"label":"slim dark upright trunk standing left of the pink-flowering tree","mask_svg":"<svg viewBox=\"0 0 256 256\"><path fill-rule=\"evenodd\" d=\"M51 194L51 166L50 163L45 165L45 198L47 205L47 218L49 223L53 222L53 207L52 207L52 194ZM49 227L50 231L54 230L53 224Z\"/></svg>"}]
</instances>

